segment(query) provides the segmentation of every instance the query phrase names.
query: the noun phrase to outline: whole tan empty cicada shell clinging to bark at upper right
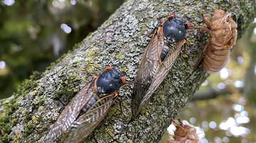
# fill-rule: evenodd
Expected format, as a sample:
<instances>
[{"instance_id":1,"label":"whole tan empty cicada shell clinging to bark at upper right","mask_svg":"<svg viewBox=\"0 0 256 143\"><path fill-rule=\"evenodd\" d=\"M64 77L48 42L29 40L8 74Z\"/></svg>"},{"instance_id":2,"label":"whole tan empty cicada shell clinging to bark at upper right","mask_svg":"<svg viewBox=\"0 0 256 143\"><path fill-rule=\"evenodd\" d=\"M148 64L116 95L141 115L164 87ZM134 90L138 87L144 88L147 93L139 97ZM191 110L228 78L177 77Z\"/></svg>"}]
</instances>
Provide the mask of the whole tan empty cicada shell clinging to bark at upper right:
<instances>
[{"instance_id":1,"label":"whole tan empty cicada shell clinging to bark at upper right","mask_svg":"<svg viewBox=\"0 0 256 143\"><path fill-rule=\"evenodd\" d=\"M214 74L223 69L228 63L230 49L235 45L238 35L236 30L238 25L230 17L232 14L218 9L213 11L210 21L206 16L203 16L203 21L209 29L201 26L192 27L200 28L210 34L210 39L196 63L196 68L203 59L203 69L208 74ZM206 55L205 52L207 52Z\"/></svg>"}]
</instances>

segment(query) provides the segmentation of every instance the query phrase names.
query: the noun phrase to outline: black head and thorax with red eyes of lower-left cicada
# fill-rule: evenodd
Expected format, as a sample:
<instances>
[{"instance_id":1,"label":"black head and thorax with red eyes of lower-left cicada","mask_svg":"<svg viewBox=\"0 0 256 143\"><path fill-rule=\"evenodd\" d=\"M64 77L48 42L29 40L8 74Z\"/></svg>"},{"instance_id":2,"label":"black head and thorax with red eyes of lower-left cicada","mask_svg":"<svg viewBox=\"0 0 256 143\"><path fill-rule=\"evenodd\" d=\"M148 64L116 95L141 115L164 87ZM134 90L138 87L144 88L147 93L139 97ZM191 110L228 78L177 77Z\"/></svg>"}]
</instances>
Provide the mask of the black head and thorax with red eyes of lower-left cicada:
<instances>
[{"instance_id":1,"label":"black head and thorax with red eyes of lower-left cicada","mask_svg":"<svg viewBox=\"0 0 256 143\"><path fill-rule=\"evenodd\" d=\"M122 84L125 83L124 76L118 69L106 67L106 70L97 78L96 94L110 94L119 91Z\"/></svg>"}]
</instances>

